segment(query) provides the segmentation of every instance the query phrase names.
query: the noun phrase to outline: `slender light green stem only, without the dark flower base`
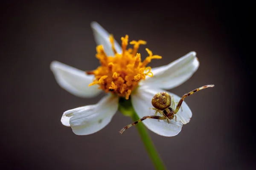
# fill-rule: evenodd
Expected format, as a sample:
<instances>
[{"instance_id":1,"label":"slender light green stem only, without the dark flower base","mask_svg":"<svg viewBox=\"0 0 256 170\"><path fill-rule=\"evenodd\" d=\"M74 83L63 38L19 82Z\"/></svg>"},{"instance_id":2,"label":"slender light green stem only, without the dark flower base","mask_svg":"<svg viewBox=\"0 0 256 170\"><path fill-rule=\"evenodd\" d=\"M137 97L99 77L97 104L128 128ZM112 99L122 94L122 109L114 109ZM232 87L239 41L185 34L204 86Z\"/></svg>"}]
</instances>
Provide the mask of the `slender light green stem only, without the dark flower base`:
<instances>
[{"instance_id":1,"label":"slender light green stem only, without the dark flower base","mask_svg":"<svg viewBox=\"0 0 256 170\"><path fill-rule=\"evenodd\" d=\"M135 122L138 119L140 119L137 116L137 113L134 111L134 114L131 116L132 120ZM154 164L154 167L156 170L165 170L166 167L163 164L162 159L160 158L156 148L154 147L154 143L151 140L151 137L148 134L148 131L146 127L143 125L143 123L138 123L136 125L138 132L140 133L140 137L143 141L143 144L145 146L145 149L148 152L149 157L151 158L151 161Z\"/></svg>"}]
</instances>

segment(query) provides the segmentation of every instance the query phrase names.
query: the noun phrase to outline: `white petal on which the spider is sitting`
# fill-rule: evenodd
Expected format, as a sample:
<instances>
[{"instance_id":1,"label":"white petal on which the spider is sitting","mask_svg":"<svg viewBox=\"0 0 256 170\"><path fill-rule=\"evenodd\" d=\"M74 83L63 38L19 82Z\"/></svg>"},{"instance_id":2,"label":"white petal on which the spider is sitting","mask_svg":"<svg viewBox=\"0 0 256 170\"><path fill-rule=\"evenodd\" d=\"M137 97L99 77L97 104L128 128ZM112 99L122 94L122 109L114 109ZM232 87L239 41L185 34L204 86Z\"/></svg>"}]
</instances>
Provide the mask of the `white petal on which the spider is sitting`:
<instances>
[{"instance_id":1,"label":"white petal on which the spider is sitting","mask_svg":"<svg viewBox=\"0 0 256 170\"><path fill-rule=\"evenodd\" d=\"M132 105L140 118L143 116L154 115L155 111L149 109L153 107L151 104L151 99L155 94L162 91L162 89L152 89L147 86L141 86L137 89L136 93L131 95ZM175 102L180 100L179 96L170 92L168 93L171 96L174 96ZM160 114L158 116L160 116ZM175 122L175 119L170 120L170 123L168 123L166 120L146 119L143 121L143 123L154 133L162 136L175 136L180 133L182 125L188 123L192 117L192 112L186 102L182 103L181 109L178 111L176 116L177 122Z\"/></svg>"}]
</instances>

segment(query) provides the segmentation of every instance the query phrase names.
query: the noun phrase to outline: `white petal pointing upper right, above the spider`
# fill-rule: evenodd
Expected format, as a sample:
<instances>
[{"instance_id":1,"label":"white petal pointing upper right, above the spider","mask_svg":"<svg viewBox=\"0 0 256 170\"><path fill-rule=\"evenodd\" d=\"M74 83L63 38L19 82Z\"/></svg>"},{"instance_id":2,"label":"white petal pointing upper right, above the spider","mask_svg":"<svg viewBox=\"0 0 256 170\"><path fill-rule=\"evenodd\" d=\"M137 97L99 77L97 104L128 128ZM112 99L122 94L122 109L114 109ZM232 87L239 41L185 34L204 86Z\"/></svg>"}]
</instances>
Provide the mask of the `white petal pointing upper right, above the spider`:
<instances>
[{"instance_id":1,"label":"white petal pointing upper right, above the spider","mask_svg":"<svg viewBox=\"0 0 256 170\"><path fill-rule=\"evenodd\" d=\"M168 65L152 68L153 77L147 77L141 85L171 89L186 82L199 67L199 61L194 51L171 62Z\"/></svg>"}]
</instances>

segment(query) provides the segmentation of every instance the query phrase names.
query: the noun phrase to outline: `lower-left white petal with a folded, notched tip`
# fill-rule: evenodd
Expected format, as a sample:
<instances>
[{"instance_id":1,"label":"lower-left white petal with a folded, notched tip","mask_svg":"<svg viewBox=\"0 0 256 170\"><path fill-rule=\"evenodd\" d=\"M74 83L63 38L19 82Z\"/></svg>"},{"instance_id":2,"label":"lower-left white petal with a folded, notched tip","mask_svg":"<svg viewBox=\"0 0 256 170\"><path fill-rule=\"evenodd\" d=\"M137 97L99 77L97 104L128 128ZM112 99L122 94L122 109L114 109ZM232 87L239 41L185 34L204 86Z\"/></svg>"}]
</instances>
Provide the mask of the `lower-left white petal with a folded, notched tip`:
<instances>
[{"instance_id":1,"label":"lower-left white petal with a folded, notched tip","mask_svg":"<svg viewBox=\"0 0 256 170\"><path fill-rule=\"evenodd\" d=\"M76 135L96 133L108 125L118 108L118 97L108 95L96 105L87 105L65 111L61 122L70 126Z\"/></svg>"}]
</instances>

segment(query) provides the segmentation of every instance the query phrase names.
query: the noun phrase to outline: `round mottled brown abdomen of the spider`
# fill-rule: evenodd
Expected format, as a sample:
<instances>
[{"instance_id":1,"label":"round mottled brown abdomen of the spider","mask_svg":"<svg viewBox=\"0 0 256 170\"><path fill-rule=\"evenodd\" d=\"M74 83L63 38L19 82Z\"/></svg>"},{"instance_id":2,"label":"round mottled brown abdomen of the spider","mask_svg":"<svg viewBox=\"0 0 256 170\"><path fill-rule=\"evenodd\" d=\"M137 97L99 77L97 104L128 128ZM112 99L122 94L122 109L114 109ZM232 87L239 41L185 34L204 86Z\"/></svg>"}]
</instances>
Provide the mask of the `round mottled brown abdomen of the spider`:
<instances>
[{"instance_id":1,"label":"round mottled brown abdomen of the spider","mask_svg":"<svg viewBox=\"0 0 256 170\"><path fill-rule=\"evenodd\" d=\"M161 111L165 110L166 108L169 108L171 105L171 96L167 92L160 92L154 95L152 98L152 105L154 108L159 109Z\"/></svg>"}]
</instances>

